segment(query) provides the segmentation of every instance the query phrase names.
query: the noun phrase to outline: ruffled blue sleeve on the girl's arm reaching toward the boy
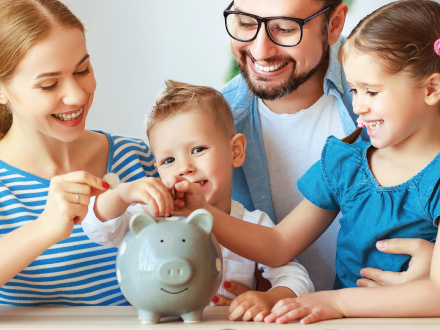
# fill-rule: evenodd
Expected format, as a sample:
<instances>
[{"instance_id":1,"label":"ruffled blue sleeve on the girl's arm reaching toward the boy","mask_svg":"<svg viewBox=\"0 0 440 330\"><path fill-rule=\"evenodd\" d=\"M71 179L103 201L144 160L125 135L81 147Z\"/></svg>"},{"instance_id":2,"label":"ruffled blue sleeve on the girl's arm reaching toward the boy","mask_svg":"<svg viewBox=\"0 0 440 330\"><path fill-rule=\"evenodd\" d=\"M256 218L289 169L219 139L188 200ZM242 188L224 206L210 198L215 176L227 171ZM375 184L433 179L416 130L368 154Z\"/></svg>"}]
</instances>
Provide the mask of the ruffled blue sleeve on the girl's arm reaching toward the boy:
<instances>
[{"instance_id":1,"label":"ruffled blue sleeve on the girl's arm reaching toward the boy","mask_svg":"<svg viewBox=\"0 0 440 330\"><path fill-rule=\"evenodd\" d=\"M363 155L369 143L346 144L334 136L327 138L321 160L315 163L297 186L314 205L338 211L347 192L365 180Z\"/></svg>"}]
</instances>

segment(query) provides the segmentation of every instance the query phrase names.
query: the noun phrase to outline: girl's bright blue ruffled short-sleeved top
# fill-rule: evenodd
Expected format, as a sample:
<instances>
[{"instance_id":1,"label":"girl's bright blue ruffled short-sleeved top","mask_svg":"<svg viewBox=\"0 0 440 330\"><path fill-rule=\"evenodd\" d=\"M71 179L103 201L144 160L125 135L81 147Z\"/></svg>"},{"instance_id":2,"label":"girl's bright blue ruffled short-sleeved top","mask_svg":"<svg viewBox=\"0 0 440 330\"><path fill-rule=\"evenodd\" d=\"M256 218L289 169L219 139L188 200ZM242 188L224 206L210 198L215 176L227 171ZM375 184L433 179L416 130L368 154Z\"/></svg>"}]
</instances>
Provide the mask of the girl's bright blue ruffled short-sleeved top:
<instances>
[{"instance_id":1,"label":"girl's bright blue ruffled short-sleeved top","mask_svg":"<svg viewBox=\"0 0 440 330\"><path fill-rule=\"evenodd\" d=\"M368 165L370 146L369 142L350 145L329 137L321 160L297 183L301 194L311 203L342 213L335 289L355 287L364 267L407 270L411 257L380 252L376 249L378 240L435 241L437 235L440 153L407 182L381 187Z\"/></svg>"}]
</instances>

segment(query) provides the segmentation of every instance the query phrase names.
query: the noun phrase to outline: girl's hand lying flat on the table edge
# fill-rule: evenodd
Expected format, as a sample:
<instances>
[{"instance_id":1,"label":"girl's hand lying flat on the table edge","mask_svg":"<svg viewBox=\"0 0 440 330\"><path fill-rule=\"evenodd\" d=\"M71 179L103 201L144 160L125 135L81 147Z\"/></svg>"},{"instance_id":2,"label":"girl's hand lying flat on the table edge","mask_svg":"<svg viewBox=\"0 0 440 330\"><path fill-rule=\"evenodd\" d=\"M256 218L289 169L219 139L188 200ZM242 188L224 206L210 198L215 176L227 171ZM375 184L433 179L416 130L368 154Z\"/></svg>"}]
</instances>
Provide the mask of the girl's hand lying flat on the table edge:
<instances>
[{"instance_id":1,"label":"girl's hand lying flat on the table edge","mask_svg":"<svg viewBox=\"0 0 440 330\"><path fill-rule=\"evenodd\" d=\"M282 299L275 304L265 322L279 324L301 320L301 324L344 317L337 303L337 291L320 291L297 298Z\"/></svg>"}]
</instances>

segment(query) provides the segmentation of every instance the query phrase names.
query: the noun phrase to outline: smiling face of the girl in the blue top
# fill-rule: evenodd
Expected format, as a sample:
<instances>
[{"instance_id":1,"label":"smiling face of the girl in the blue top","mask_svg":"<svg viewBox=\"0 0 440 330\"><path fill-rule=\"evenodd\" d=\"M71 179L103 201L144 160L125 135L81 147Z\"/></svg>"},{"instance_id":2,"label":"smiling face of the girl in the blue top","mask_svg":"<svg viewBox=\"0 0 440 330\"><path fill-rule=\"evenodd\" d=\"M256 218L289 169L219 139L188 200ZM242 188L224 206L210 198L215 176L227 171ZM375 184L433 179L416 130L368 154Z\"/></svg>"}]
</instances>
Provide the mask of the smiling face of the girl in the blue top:
<instances>
[{"instance_id":1,"label":"smiling face of the girl in the blue top","mask_svg":"<svg viewBox=\"0 0 440 330\"><path fill-rule=\"evenodd\" d=\"M376 56L351 51L343 65L352 87L353 111L367 127L376 148L398 146L429 136L429 122L438 115L427 111L425 91L407 74L386 73ZM416 140L412 140L416 141Z\"/></svg>"}]
</instances>

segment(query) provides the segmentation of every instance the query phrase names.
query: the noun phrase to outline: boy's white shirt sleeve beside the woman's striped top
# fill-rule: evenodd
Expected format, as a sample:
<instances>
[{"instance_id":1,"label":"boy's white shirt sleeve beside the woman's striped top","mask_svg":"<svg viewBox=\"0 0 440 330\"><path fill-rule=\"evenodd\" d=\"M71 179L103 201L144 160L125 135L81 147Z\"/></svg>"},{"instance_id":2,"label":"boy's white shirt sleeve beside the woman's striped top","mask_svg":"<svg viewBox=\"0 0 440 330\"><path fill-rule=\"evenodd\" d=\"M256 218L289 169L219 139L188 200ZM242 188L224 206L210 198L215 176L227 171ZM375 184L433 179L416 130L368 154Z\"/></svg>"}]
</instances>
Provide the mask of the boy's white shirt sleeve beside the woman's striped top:
<instances>
[{"instance_id":1,"label":"boy's white shirt sleeve beside the woman's striped top","mask_svg":"<svg viewBox=\"0 0 440 330\"><path fill-rule=\"evenodd\" d=\"M148 211L143 205L133 204L121 216L103 222L95 214L95 200L95 196L90 198L89 211L81 224L90 240L101 245L118 247L129 230L131 216Z\"/></svg>"}]
</instances>

